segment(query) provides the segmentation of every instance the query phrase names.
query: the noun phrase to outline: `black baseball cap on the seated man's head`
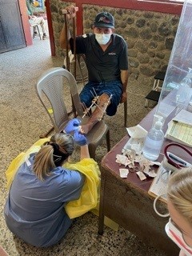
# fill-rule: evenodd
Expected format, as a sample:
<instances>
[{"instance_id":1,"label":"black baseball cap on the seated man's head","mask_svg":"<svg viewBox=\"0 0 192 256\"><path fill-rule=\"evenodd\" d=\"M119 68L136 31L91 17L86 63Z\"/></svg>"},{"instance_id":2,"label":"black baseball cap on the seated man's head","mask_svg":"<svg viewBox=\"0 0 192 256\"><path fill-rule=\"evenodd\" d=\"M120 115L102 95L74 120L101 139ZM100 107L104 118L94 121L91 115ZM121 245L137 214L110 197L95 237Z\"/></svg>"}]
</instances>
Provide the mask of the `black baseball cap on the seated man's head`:
<instances>
[{"instance_id":1,"label":"black baseball cap on the seated man's head","mask_svg":"<svg viewBox=\"0 0 192 256\"><path fill-rule=\"evenodd\" d=\"M114 17L107 12L99 13L94 20L94 26L114 29Z\"/></svg>"}]
</instances>

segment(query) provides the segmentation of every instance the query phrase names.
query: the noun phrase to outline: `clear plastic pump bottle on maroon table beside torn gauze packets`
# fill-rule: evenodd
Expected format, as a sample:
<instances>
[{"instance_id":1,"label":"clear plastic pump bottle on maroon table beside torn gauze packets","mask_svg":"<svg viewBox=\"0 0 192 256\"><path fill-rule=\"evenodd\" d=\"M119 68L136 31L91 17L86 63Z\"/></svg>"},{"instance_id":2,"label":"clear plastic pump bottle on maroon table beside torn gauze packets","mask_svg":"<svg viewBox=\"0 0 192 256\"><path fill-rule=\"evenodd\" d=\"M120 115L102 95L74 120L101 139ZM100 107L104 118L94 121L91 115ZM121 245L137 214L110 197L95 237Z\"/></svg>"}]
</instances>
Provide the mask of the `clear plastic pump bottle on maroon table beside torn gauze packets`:
<instances>
[{"instance_id":1,"label":"clear plastic pump bottle on maroon table beside torn gauze packets","mask_svg":"<svg viewBox=\"0 0 192 256\"><path fill-rule=\"evenodd\" d=\"M162 131L162 122L158 120L155 122L154 127L146 135L146 140L142 149L142 154L144 157L150 161L157 160L163 141L164 133Z\"/></svg>"}]
</instances>

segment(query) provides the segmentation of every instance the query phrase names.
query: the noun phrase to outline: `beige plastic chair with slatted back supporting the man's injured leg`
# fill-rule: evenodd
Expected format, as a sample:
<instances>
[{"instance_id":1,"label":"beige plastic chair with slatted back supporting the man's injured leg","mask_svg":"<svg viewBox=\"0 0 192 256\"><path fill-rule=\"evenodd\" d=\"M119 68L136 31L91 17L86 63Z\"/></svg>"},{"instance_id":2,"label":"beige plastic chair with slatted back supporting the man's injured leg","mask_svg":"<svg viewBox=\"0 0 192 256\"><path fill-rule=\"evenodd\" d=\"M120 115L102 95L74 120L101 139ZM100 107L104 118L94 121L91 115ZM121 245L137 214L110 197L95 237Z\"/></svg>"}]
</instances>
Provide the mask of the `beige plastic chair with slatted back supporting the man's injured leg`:
<instances>
[{"instance_id":1,"label":"beige plastic chair with slatted back supporting the man's injured leg","mask_svg":"<svg viewBox=\"0 0 192 256\"><path fill-rule=\"evenodd\" d=\"M56 132L61 132L66 123L70 120L70 114L77 115L82 120L82 124L87 122L87 118L82 119L83 110L78 95L77 82L73 74L61 67L46 70L38 79L36 85L38 98L45 107L47 114L54 126ZM73 104L74 103L74 104ZM74 106L74 110L69 111ZM69 114L70 113L70 114ZM46 134L46 136L49 133ZM110 150L110 130L106 123L102 120L98 122L89 134L87 139L89 142L90 157L95 158L95 150L101 144L102 138L106 136L107 150Z\"/></svg>"}]
</instances>

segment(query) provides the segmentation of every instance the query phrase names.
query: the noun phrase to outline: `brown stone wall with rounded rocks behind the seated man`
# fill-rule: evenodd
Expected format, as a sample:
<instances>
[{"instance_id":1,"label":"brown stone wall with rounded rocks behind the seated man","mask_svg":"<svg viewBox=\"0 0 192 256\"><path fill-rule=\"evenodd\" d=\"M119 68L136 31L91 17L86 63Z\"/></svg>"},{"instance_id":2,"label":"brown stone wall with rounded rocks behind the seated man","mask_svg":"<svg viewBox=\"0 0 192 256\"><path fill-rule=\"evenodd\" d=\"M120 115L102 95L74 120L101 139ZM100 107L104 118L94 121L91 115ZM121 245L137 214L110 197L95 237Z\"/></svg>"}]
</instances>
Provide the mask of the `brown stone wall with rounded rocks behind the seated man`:
<instances>
[{"instance_id":1,"label":"brown stone wall with rounded rocks behind the seated man","mask_svg":"<svg viewBox=\"0 0 192 256\"><path fill-rule=\"evenodd\" d=\"M52 0L50 6L58 56L64 55L58 45L63 24L59 10L68 5ZM103 10L114 15L115 33L122 35L128 44L130 80L143 79L143 75L153 78L158 70L166 70L178 28L178 15L83 5L84 32L90 32L95 15Z\"/></svg>"}]
</instances>

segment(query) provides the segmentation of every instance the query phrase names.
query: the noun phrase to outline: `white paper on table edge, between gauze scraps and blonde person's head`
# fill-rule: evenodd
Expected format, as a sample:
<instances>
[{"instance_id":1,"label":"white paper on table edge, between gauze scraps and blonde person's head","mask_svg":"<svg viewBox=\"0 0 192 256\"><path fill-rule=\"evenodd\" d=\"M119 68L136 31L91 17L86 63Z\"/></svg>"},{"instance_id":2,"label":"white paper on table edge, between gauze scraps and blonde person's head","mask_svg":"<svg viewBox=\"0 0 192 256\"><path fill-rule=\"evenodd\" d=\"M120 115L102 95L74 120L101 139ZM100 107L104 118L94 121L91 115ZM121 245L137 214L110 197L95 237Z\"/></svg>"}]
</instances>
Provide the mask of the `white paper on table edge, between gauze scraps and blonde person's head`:
<instances>
[{"instance_id":1,"label":"white paper on table edge, between gauze scraps and blonde person's head","mask_svg":"<svg viewBox=\"0 0 192 256\"><path fill-rule=\"evenodd\" d=\"M163 194L162 200L166 202L166 190L167 190L167 182L168 182L169 172L167 172L162 166L158 168L157 176L154 177L154 181L152 182L148 194L152 195L156 198L158 195Z\"/></svg>"}]
</instances>

